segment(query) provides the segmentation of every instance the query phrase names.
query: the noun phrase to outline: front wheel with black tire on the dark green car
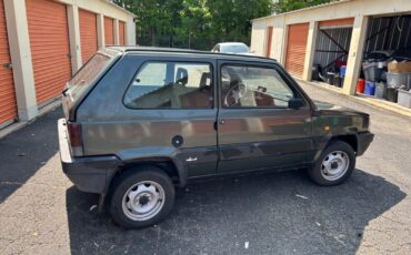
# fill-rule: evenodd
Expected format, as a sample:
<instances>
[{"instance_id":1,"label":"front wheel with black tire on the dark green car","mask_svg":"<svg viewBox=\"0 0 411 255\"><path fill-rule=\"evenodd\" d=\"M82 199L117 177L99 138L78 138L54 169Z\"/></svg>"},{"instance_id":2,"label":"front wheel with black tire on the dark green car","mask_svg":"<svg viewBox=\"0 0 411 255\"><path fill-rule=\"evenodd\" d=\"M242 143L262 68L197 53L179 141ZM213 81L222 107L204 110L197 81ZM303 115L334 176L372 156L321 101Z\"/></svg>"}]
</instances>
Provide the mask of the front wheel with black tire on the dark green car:
<instances>
[{"instance_id":1,"label":"front wheel with black tire on the dark green car","mask_svg":"<svg viewBox=\"0 0 411 255\"><path fill-rule=\"evenodd\" d=\"M332 141L309 169L310 178L321 186L339 185L350 177L355 167L355 152L343 141Z\"/></svg>"}]
</instances>

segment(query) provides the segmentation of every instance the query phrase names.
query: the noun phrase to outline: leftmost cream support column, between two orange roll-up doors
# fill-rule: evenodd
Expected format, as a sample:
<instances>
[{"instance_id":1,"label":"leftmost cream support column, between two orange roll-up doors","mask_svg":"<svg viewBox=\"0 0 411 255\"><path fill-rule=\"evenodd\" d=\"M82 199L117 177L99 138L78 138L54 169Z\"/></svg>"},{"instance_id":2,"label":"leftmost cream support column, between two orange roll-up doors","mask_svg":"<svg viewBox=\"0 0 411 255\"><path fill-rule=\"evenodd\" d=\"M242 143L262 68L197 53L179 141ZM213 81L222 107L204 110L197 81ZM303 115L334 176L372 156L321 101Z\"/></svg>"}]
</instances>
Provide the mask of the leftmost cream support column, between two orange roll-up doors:
<instances>
[{"instance_id":1,"label":"leftmost cream support column, between two orange roll-up doors","mask_svg":"<svg viewBox=\"0 0 411 255\"><path fill-rule=\"evenodd\" d=\"M37 116L38 106L26 0L4 1L4 13L20 121Z\"/></svg>"}]
</instances>

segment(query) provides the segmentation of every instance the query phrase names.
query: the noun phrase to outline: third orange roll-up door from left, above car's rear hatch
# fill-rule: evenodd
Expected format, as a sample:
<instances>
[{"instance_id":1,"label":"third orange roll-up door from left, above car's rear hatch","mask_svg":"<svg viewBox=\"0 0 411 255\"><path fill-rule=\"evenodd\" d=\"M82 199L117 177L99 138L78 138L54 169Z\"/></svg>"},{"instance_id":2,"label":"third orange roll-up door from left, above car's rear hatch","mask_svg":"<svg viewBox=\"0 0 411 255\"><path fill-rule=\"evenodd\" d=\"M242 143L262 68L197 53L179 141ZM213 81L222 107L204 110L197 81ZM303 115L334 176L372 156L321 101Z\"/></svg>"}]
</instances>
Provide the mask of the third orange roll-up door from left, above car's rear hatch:
<instances>
[{"instance_id":1,"label":"third orange roll-up door from left, above car's rear hatch","mask_svg":"<svg viewBox=\"0 0 411 255\"><path fill-rule=\"evenodd\" d=\"M86 63L98 50L97 16L90 11L79 10L81 59Z\"/></svg>"}]
</instances>

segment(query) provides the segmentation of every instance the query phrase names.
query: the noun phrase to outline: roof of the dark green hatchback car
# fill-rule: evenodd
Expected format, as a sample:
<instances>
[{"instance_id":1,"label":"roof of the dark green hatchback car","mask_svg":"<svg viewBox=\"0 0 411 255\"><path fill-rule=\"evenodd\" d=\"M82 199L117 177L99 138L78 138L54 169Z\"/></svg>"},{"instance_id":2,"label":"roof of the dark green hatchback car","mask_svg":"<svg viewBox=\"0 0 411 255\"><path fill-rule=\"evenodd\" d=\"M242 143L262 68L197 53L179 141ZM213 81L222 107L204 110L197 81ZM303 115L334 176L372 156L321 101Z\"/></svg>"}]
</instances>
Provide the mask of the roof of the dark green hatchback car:
<instances>
[{"instance_id":1,"label":"roof of the dark green hatchback car","mask_svg":"<svg viewBox=\"0 0 411 255\"><path fill-rule=\"evenodd\" d=\"M242 60L242 61L259 61L267 63L278 63L274 59L268 59L258 55L243 55L243 54L228 54L228 53L217 53L210 51L198 51L188 49L177 49L177 48L158 48L158 47L107 47L108 49L117 50L123 52L124 54L139 54L139 53L162 53L163 55L184 55L190 54L199 58L210 58L217 60Z\"/></svg>"}]
</instances>

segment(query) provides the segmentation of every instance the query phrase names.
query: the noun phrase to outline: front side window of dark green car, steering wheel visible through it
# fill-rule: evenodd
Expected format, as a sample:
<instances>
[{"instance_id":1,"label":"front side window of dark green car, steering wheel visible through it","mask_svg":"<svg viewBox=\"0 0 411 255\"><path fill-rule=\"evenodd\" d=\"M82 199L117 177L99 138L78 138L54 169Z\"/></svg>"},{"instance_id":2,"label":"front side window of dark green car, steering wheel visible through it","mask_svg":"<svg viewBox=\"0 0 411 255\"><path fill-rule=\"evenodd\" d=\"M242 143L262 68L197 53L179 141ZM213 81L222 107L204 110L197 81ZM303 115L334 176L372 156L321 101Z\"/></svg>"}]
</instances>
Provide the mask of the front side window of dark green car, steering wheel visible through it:
<instances>
[{"instance_id":1,"label":"front side window of dark green car, steering wheel visible through it","mask_svg":"<svg viewBox=\"0 0 411 255\"><path fill-rule=\"evenodd\" d=\"M288 108L293 91L271 68L223 65L221 94L224 108Z\"/></svg>"}]
</instances>

